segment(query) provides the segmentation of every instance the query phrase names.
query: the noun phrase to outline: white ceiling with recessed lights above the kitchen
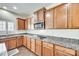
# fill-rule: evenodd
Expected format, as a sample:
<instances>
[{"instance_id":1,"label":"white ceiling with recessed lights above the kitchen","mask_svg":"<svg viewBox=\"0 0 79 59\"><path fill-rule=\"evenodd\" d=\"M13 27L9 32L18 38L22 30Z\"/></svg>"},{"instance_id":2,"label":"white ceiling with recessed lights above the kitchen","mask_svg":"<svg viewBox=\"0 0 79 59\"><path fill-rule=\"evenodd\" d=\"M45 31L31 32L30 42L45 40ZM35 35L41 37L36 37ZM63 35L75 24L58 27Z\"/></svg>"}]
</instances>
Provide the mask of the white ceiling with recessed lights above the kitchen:
<instances>
[{"instance_id":1,"label":"white ceiling with recessed lights above the kitchen","mask_svg":"<svg viewBox=\"0 0 79 59\"><path fill-rule=\"evenodd\" d=\"M6 6L7 11L26 17L31 15L35 10L50 5L52 3L0 3L0 8ZM13 6L16 6L17 10L13 9Z\"/></svg>"}]
</instances>

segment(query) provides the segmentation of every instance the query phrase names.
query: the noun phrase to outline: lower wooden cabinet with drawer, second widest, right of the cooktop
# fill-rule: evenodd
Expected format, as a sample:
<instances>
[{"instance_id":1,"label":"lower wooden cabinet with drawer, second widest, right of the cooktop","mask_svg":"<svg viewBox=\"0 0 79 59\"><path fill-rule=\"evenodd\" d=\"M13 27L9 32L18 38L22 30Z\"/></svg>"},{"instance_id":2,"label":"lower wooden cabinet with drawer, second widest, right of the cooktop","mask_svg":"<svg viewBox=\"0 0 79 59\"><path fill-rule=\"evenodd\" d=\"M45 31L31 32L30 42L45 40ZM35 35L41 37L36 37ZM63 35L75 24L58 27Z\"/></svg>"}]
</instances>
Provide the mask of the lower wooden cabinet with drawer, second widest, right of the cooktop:
<instances>
[{"instance_id":1,"label":"lower wooden cabinet with drawer, second widest, right of the cooktop","mask_svg":"<svg viewBox=\"0 0 79 59\"><path fill-rule=\"evenodd\" d=\"M43 42L43 56L53 56L54 55L53 44Z\"/></svg>"}]
</instances>

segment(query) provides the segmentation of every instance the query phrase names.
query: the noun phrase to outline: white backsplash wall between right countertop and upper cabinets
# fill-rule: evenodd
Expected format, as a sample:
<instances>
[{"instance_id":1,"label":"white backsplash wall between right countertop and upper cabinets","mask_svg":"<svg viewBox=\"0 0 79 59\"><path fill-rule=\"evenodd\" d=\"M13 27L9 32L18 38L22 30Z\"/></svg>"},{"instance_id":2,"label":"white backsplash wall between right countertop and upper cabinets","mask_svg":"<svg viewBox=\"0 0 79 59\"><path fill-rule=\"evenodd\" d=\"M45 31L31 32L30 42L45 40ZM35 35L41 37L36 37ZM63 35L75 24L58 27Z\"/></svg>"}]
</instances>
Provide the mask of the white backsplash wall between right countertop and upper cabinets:
<instances>
[{"instance_id":1,"label":"white backsplash wall between right countertop and upper cabinets","mask_svg":"<svg viewBox=\"0 0 79 59\"><path fill-rule=\"evenodd\" d=\"M27 30L27 33L79 39L79 29Z\"/></svg>"}]
</instances>

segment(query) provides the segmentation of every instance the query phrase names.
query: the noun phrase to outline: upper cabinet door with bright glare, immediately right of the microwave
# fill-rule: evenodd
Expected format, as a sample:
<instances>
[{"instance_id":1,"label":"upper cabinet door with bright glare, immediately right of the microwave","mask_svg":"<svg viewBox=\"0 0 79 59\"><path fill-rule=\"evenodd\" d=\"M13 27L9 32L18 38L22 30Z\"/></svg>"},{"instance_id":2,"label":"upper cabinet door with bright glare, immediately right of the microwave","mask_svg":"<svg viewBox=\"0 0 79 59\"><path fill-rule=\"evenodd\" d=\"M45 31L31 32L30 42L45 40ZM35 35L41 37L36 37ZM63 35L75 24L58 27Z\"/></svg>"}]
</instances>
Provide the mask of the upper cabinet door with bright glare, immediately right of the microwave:
<instances>
[{"instance_id":1,"label":"upper cabinet door with bright glare, immediately right of the microwave","mask_svg":"<svg viewBox=\"0 0 79 59\"><path fill-rule=\"evenodd\" d=\"M50 9L46 12L45 18L45 28L52 29L53 28L53 9Z\"/></svg>"}]
</instances>

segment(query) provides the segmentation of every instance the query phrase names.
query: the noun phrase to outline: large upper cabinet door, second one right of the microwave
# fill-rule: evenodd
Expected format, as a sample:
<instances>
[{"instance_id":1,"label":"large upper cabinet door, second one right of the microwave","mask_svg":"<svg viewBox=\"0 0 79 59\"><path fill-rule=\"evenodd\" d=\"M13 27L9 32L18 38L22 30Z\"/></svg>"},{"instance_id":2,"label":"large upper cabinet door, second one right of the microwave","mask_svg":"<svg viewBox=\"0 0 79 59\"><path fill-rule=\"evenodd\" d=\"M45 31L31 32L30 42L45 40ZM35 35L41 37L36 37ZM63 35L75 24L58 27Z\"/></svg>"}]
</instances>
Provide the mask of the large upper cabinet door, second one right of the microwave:
<instances>
[{"instance_id":1,"label":"large upper cabinet door, second one right of the microwave","mask_svg":"<svg viewBox=\"0 0 79 59\"><path fill-rule=\"evenodd\" d=\"M54 28L67 28L67 4L54 8Z\"/></svg>"}]
</instances>

